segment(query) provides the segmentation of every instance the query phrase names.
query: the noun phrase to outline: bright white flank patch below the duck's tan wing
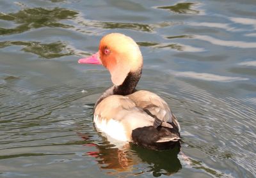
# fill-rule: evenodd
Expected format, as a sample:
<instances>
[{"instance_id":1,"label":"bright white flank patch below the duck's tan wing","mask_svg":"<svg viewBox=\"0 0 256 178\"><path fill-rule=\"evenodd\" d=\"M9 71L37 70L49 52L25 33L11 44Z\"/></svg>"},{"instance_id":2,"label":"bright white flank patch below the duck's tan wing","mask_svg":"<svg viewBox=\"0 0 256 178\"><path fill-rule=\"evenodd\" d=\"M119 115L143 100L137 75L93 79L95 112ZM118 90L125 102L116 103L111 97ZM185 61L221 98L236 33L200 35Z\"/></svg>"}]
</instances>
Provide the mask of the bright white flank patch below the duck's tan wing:
<instances>
[{"instance_id":1,"label":"bright white flank patch below the duck's tan wing","mask_svg":"<svg viewBox=\"0 0 256 178\"><path fill-rule=\"evenodd\" d=\"M109 137L122 142L129 141L126 137L124 126L120 122L115 121L115 119L109 119L107 122L106 119L99 119L98 115L94 115L93 121L95 122L95 126L100 131L109 135Z\"/></svg>"}]
</instances>

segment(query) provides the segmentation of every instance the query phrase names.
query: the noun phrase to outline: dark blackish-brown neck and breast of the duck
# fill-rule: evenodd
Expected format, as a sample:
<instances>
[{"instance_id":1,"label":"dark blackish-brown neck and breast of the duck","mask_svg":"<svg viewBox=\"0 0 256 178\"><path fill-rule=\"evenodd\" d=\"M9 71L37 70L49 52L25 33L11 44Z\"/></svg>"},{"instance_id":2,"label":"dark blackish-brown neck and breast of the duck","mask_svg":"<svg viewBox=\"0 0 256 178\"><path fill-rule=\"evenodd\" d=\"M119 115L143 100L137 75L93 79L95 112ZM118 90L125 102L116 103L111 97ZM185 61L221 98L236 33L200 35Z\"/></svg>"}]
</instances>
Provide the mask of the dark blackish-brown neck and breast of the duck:
<instances>
[{"instance_id":1,"label":"dark blackish-brown neck and breast of the duck","mask_svg":"<svg viewBox=\"0 0 256 178\"><path fill-rule=\"evenodd\" d=\"M95 103L95 107L100 103L100 101L113 94L125 96L134 93L134 91L136 91L135 87L138 84L140 77L141 68L136 72L129 72L122 85L113 85L100 96L99 100Z\"/></svg>"}]
</instances>

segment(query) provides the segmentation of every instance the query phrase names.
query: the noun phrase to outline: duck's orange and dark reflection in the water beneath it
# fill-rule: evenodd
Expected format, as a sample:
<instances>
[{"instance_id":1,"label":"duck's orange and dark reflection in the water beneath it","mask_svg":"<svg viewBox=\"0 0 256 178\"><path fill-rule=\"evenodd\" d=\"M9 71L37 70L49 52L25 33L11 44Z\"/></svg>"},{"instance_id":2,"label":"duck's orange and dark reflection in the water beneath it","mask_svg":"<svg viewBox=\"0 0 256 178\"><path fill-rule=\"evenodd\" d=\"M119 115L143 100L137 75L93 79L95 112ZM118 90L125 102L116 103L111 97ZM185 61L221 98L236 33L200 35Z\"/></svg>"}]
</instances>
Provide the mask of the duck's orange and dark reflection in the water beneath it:
<instances>
[{"instance_id":1,"label":"duck's orange and dark reflection in the water beneath it","mask_svg":"<svg viewBox=\"0 0 256 178\"><path fill-rule=\"evenodd\" d=\"M90 141L88 137L79 135L87 142ZM182 168L178 158L179 142L173 145L172 149L155 151L134 144L115 147L115 145L109 144L106 138L102 137L102 139L104 144L84 144L84 146L97 149L96 151L86 152L86 155L93 156L100 168L108 170L108 174L127 172L136 175L151 172L154 177L159 177L162 174L171 175Z\"/></svg>"}]
</instances>

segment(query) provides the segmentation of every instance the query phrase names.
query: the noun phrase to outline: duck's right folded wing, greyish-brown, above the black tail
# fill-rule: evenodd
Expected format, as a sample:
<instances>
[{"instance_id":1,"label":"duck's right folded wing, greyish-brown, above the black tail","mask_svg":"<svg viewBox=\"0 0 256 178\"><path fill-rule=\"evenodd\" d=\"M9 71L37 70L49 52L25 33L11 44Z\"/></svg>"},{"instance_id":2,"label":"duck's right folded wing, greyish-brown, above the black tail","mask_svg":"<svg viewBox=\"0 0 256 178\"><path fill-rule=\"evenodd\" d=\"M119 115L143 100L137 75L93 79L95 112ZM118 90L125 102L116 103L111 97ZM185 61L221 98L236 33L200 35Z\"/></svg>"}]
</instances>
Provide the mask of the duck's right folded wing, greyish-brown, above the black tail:
<instances>
[{"instance_id":1,"label":"duck's right folded wing, greyish-brown, above the black tail","mask_svg":"<svg viewBox=\"0 0 256 178\"><path fill-rule=\"evenodd\" d=\"M173 128L173 124L177 126L180 131L179 122L173 115L172 111L168 107L166 101L160 98L157 94L149 91L136 91L128 95L137 107L142 108L148 115L154 117L154 127L164 126L167 128Z\"/></svg>"}]
</instances>

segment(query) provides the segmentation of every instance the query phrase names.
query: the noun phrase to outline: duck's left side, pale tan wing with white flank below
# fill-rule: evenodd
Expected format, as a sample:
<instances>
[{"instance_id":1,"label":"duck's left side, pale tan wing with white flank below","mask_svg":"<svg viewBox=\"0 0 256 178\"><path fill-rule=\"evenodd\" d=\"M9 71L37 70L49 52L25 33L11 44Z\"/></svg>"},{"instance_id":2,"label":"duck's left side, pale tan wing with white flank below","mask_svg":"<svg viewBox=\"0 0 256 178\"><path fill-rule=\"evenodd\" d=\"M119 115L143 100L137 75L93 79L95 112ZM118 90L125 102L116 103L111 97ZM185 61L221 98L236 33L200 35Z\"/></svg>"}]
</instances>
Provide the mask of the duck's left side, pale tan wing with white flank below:
<instances>
[{"instance_id":1,"label":"duck's left side, pale tan wing with white flank below","mask_svg":"<svg viewBox=\"0 0 256 178\"><path fill-rule=\"evenodd\" d=\"M112 138L131 141L132 130L152 126L154 118L127 96L112 95L95 108L93 121L99 130Z\"/></svg>"}]
</instances>

